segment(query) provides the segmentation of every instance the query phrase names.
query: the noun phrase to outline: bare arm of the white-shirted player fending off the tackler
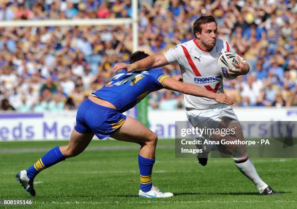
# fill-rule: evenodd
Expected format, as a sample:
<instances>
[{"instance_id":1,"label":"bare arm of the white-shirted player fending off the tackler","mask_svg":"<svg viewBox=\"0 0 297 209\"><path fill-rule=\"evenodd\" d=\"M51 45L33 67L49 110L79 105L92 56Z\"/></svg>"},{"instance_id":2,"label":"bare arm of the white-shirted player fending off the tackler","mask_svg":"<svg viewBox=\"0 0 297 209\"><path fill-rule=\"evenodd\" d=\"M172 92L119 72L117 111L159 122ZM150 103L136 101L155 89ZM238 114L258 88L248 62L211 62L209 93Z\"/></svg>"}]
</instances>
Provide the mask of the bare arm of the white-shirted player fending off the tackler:
<instances>
[{"instance_id":1,"label":"bare arm of the white-shirted player fending off the tackler","mask_svg":"<svg viewBox=\"0 0 297 209\"><path fill-rule=\"evenodd\" d=\"M142 70L148 70L151 68L163 67L168 64L169 63L164 54L157 54L157 55L148 56L130 65L126 63L117 63L115 64L114 70L118 71L118 70L124 69L127 72L142 71Z\"/></svg>"}]
</instances>

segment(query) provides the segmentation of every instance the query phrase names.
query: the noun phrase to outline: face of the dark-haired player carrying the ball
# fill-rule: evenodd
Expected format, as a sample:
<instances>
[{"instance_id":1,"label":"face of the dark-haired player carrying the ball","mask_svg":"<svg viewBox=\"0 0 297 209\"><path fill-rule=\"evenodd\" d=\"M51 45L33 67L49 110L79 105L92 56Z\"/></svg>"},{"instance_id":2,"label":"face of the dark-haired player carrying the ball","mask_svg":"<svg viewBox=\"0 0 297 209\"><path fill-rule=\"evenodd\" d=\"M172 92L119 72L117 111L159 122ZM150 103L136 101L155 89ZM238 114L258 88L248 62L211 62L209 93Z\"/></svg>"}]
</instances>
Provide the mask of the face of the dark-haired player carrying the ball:
<instances>
[{"instance_id":1,"label":"face of the dark-haired player carrying the ball","mask_svg":"<svg viewBox=\"0 0 297 209\"><path fill-rule=\"evenodd\" d=\"M217 26L215 22L203 24L201 25L201 29L201 34L197 33L197 37L206 48L213 49L217 37Z\"/></svg>"}]
</instances>

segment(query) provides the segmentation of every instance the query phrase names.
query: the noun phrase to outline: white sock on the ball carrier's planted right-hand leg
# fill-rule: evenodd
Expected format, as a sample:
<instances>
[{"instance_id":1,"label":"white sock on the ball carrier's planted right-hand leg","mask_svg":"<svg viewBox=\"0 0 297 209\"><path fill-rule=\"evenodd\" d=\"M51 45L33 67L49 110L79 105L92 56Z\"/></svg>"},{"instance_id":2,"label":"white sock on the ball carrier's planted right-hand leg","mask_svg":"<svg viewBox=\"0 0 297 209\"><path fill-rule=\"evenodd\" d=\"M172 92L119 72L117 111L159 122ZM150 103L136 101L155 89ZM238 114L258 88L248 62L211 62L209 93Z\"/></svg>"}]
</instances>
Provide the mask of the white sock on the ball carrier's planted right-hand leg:
<instances>
[{"instance_id":1,"label":"white sock on the ball carrier's planted right-hand leg","mask_svg":"<svg viewBox=\"0 0 297 209\"><path fill-rule=\"evenodd\" d=\"M260 176L257 174L254 164L247 156L233 159L238 170L256 185L260 193L268 187L268 185L262 181Z\"/></svg>"}]
</instances>

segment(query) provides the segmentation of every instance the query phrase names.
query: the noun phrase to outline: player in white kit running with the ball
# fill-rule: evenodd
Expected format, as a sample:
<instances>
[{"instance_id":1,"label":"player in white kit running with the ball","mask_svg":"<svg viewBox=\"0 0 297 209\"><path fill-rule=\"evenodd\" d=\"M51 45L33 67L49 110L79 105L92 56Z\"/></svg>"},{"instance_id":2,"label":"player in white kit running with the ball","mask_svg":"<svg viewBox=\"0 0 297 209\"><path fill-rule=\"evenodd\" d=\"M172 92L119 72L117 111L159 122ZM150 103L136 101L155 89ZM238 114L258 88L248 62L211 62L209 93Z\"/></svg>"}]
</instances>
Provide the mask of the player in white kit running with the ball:
<instances>
[{"instance_id":1,"label":"player in white kit running with the ball","mask_svg":"<svg viewBox=\"0 0 297 209\"><path fill-rule=\"evenodd\" d=\"M194 39L176 45L163 54L151 55L130 65L117 63L114 70L141 71L178 63L183 82L195 84L216 93L223 93L223 79L217 70L217 59L220 52L231 52L237 56L239 64L233 63L236 69L230 69L233 76L248 73L248 63L236 54L227 41L217 39L217 24L213 16L198 18L193 24L193 33ZM230 105L219 104L213 99L191 95L184 95L184 103L186 115L194 127L236 128L235 135L228 136L228 139L244 140L240 123ZM203 135L203 137L212 140L222 139L221 136L215 134ZM245 145L220 146L224 152L233 156L236 167L255 184L260 194L279 194L259 177L247 156ZM204 160L200 158L199 162L206 165L207 158Z\"/></svg>"}]
</instances>

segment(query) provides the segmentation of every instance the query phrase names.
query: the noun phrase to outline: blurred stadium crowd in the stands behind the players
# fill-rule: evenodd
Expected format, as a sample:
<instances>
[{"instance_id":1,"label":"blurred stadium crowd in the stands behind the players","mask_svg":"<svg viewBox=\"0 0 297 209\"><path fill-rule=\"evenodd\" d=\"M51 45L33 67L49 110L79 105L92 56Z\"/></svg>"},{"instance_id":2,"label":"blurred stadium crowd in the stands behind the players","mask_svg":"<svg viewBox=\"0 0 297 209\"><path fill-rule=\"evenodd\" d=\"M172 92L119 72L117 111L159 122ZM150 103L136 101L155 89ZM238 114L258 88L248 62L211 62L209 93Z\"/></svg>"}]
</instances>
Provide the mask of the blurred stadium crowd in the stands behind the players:
<instances>
[{"instance_id":1,"label":"blurred stadium crowd in the stands behind the players","mask_svg":"<svg viewBox=\"0 0 297 209\"><path fill-rule=\"evenodd\" d=\"M0 21L117 18L132 15L130 0L1 0ZM247 76L225 80L234 106L297 105L297 3L294 0L140 0L139 50L149 54L194 37L192 23L213 15L218 38L250 65ZM129 62L132 27L0 28L1 110L76 109ZM180 75L178 65L164 68ZM153 109L183 106L169 90L149 96Z\"/></svg>"}]
</instances>

